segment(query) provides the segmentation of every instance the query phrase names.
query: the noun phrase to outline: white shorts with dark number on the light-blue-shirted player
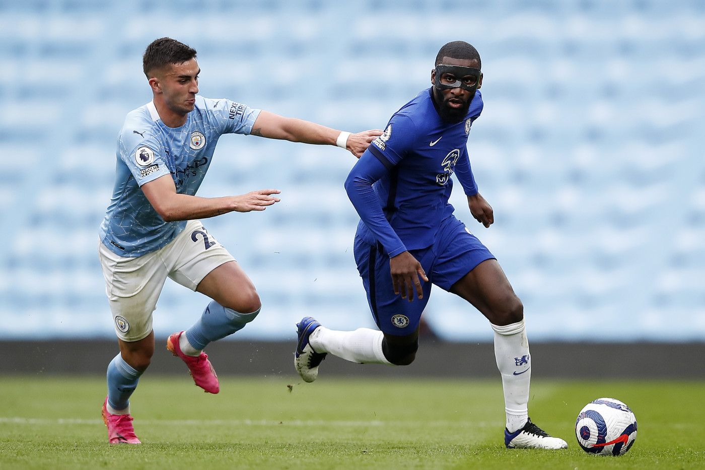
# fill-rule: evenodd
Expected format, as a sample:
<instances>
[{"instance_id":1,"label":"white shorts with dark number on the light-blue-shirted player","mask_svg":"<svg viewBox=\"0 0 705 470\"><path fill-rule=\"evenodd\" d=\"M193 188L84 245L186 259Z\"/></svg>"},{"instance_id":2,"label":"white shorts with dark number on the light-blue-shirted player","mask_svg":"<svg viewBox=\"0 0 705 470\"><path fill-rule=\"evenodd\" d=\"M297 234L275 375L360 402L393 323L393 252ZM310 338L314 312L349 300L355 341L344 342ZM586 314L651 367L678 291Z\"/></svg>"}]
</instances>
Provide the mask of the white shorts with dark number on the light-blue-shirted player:
<instances>
[{"instance_id":1,"label":"white shorts with dark number on the light-blue-shirted player","mask_svg":"<svg viewBox=\"0 0 705 470\"><path fill-rule=\"evenodd\" d=\"M167 277L195 291L209 272L235 261L198 220L189 220L168 245L137 258L116 255L102 241L98 253L115 332L127 342L152 332L152 312Z\"/></svg>"}]
</instances>

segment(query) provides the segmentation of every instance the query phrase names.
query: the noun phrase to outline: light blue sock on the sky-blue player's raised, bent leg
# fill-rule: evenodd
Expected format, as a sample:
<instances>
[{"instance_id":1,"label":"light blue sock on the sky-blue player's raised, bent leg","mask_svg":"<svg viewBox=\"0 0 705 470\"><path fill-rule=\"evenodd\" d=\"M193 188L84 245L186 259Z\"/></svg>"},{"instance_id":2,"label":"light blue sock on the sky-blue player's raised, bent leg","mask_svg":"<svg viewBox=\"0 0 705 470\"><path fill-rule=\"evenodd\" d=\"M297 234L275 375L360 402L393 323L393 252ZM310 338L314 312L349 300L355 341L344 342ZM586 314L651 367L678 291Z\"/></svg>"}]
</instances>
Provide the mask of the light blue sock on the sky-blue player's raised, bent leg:
<instances>
[{"instance_id":1,"label":"light blue sock on the sky-blue player's raised, bent leg","mask_svg":"<svg viewBox=\"0 0 705 470\"><path fill-rule=\"evenodd\" d=\"M252 313L240 313L212 301L201 314L200 320L186 330L186 339L195 349L204 349L209 342L222 339L242 330L255 320L262 307Z\"/></svg>"}]
</instances>

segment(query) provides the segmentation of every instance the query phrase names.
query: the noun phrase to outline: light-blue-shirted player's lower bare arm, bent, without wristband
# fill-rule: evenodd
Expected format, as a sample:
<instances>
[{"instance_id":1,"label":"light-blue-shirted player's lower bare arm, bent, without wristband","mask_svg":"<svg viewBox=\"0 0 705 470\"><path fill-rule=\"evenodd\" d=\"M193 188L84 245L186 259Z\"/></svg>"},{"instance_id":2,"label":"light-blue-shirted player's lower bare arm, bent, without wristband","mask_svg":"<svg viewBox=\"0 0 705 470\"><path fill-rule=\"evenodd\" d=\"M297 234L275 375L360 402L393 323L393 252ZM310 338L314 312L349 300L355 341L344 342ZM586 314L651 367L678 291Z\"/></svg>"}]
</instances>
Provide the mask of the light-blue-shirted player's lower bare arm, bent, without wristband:
<instances>
[{"instance_id":1,"label":"light-blue-shirted player's lower bare arm, bent, without wristband","mask_svg":"<svg viewBox=\"0 0 705 470\"><path fill-rule=\"evenodd\" d=\"M165 222L175 220L205 219L227 212L250 212L264 210L266 206L279 202L278 189L261 189L250 193L223 198L200 198L199 196L179 194L171 175L160 176L142 186L142 192L152 204L154 210Z\"/></svg>"}]
</instances>

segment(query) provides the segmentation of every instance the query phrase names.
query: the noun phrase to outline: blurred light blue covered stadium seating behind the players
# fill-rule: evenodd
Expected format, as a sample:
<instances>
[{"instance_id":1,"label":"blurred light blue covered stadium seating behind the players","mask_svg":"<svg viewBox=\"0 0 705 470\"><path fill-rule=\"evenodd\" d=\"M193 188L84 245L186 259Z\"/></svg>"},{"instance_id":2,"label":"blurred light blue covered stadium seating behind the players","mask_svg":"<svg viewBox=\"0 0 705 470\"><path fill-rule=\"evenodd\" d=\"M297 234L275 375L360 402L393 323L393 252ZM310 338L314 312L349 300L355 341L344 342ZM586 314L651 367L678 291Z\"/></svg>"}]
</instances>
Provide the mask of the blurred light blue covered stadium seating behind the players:
<instances>
[{"instance_id":1,"label":"blurred light blue covered stadium seating behind the players","mask_svg":"<svg viewBox=\"0 0 705 470\"><path fill-rule=\"evenodd\" d=\"M124 116L151 99L145 46L198 50L200 90L361 131L429 86L450 40L482 55L485 109L469 150L496 223L456 214L525 303L533 341L705 340L705 2L696 0L0 0L0 339L114 337L97 260ZM226 135L200 195L275 187L263 213L204 221L264 307L238 333L295 322L372 326L353 261L354 158ZM206 299L167 282L154 327L188 327ZM434 289L429 325L491 339Z\"/></svg>"}]
</instances>

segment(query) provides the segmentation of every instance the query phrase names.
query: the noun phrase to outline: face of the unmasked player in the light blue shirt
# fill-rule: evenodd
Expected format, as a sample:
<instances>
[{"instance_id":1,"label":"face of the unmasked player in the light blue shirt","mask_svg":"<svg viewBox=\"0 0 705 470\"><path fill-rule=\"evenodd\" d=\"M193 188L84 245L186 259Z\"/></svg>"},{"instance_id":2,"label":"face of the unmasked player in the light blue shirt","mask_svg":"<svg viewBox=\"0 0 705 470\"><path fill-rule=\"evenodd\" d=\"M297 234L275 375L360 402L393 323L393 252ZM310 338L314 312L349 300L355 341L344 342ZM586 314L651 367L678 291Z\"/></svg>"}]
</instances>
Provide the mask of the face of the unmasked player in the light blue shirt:
<instances>
[{"instance_id":1,"label":"face of the unmasked player in the light blue shirt","mask_svg":"<svg viewBox=\"0 0 705 470\"><path fill-rule=\"evenodd\" d=\"M171 112L185 116L193 111L200 72L196 59L191 59L183 64L169 64L157 74L164 104Z\"/></svg>"}]
</instances>

